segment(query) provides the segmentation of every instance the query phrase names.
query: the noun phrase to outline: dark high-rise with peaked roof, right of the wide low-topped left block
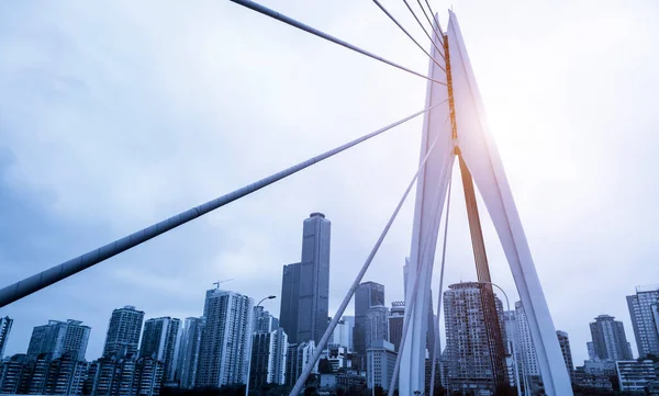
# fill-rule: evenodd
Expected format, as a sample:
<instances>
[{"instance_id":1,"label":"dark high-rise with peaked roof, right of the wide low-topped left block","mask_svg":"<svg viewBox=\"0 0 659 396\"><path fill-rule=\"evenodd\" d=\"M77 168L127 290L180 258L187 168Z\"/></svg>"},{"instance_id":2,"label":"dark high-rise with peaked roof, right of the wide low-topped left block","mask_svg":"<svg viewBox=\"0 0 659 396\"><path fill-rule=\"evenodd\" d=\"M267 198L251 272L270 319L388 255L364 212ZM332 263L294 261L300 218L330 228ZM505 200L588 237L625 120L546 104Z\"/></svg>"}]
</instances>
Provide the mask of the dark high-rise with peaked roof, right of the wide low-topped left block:
<instances>
[{"instance_id":1,"label":"dark high-rise with peaked roof, right of the wide low-topped left block","mask_svg":"<svg viewBox=\"0 0 659 396\"><path fill-rule=\"evenodd\" d=\"M112 310L103 357L137 353L143 320L144 312L135 309L132 305Z\"/></svg>"}]
</instances>

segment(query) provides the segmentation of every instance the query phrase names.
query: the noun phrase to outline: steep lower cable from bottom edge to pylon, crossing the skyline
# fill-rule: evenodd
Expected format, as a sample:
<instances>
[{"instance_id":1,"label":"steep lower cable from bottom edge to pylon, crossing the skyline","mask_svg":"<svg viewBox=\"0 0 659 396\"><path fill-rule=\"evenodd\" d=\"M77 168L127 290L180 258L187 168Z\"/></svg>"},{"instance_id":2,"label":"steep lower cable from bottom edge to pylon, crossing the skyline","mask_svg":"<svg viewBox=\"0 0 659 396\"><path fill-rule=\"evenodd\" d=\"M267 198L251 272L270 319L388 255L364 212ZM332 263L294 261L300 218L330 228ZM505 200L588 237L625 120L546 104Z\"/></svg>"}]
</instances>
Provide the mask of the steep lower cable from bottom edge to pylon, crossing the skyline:
<instances>
[{"instance_id":1,"label":"steep lower cable from bottom edge to pylon, crossing the skyline","mask_svg":"<svg viewBox=\"0 0 659 396\"><path fill-rule=\"evenodd\" d=\"M443 101L439 104L442 104L444 102L446 102L446 101ZM437 136L435 138L435 140L432 144L432 146L426 151L426 155L424 156L423 160L421 161L421 163L418 166L418 169L416 170L416 173L414 173L414 178L412 178L412 180L410 181L410 184L407 184L407 188L405 189L405 192L403 193L403 196L401 197L401 200L399 201L398 205L395 206L395 210L391 214L391 217L389 217L389 220L387 222L387 225L384 226L384 229L382 229L382 233L380 234L380 237L376 241L376 245L373 246L373 248L371 249L370 253L368 254L366 261L364 262L364 265L361 265L361 269L357 273L357 276L355 278L355 281L353 281L353 285L348 290L348 293L346 294L346 296L344 297L343 302L338 306L338 309L336 310L336 314L334 315L334 317L330 321L330 326L327 326L327 329L325 330L325 333L323 333L323 337L321 338L321 341L316 346L316 349L315 349L315 351L313 353L313 357L311 358L311 360L309 361L309 363L306 363L306 365L302 370L302 374L298 377L298 381L295 382L295 385L293 386L293 389L291 391L291 393L290 393L289 396L298 396L300 394L300 392L302 391L302 386L304 386L304 383L306 382L306 378L309 377L309 374L311 374L311 371L313 370L315 363L319 361L319 359L321 358L321 354L323 353L323 350L327 346L327 341L330 340L330 336L332 336L332 333L334 332L334 329L336 328L336 325L338 324L338 320L340 319L340 317L343 316L344 312L346 310L346 307L350 303L350 299L353 299L353 295L355 295L355 292L357 291L357 287L359 286L359 283L361 283L361 280L364 279L364 275L366 274L366 271L368 270L368 268L370 267L371 262L373 261L373 258L376 257L376 253L380 249L380 246L382 245L382 241L384 241L384 237L387 237L387 234L389 233L389 228L391 228L391 225L393 224L393 220L395 219L395 217L398 216L401 207L403 206L403 203L405 203L405 199L407 199L407 195L410 194L410 191L412 190L412 186L414 186L414 183L418 179L418 176L421 174L421 172L425 168L425 165L426 165L428 158L431 157L431 154L433 152L433 149L435 148L438 138L439 138L439 136Z\"/></svg>"}]
</instances>

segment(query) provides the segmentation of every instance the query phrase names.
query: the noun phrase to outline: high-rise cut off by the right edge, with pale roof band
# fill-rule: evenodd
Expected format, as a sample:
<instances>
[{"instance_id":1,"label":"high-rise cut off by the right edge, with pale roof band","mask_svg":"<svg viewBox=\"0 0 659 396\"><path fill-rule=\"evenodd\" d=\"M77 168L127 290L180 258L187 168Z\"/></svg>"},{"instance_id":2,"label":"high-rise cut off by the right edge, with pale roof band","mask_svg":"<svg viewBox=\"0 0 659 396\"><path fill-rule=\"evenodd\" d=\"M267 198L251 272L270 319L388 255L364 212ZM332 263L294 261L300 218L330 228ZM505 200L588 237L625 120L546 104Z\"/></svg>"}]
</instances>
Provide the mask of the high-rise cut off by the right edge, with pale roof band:
<instances>
[{"instance_id":1,"label":"high-rise cut off by the right edge, with pale roof band","mask_svg":"<svg viewBox=\"0 0 659 396\"><path fill-rule=\"evenodd\" d=\"M638 357L659 355L659 323L655 313L659 305L659 285L636 286L636 294L627 296L632 327ZM657 314L659 316L659 314Z\"/></svg>"}]
</instances>

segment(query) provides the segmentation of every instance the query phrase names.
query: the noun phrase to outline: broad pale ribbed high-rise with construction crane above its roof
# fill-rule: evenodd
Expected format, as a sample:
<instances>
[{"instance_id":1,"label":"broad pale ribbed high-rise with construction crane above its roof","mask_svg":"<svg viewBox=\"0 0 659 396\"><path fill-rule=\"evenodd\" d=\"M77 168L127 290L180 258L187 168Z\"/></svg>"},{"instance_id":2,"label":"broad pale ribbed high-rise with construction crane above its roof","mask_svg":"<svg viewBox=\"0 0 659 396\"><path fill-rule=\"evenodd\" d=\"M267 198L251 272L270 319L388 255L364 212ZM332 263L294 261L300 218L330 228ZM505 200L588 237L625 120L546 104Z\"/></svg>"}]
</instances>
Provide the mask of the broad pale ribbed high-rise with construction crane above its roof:
<instances>
[{"instance_id":1,"label":"broad pale ribbed high-rise with construction crane above its roof","mask_svg":"<svg viewBox=\"0 0 659 396\"><path fill-rule=\"evenodd\" d=\"M206 292L197 386L247 383L253 315L253 298L220 288Z\"/></svg>"}]
</instances>

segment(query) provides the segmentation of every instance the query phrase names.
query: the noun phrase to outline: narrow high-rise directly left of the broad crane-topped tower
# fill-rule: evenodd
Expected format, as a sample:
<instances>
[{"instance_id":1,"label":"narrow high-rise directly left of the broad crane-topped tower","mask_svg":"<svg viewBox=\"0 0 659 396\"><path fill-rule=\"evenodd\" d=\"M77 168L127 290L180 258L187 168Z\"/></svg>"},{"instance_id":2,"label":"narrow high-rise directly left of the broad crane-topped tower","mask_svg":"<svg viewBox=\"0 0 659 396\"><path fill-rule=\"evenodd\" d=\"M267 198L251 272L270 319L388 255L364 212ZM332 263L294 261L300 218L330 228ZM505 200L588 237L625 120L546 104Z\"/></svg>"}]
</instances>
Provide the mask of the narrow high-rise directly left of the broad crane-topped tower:
<instances>
[{"instance_id":1,"label":"narrow high-rise directly left of the broad crane-topped tower","mask_svg":"<svg viewBox=\"0 0 659 396\"><path fill-rule=\"evenodd\" d=\"M196 384L203 323L203 317L190 317L186 318L183 326L181 347L179 349L178 371L180 386L185 389L191 389Z\"/></svg>"}]
</instances>

